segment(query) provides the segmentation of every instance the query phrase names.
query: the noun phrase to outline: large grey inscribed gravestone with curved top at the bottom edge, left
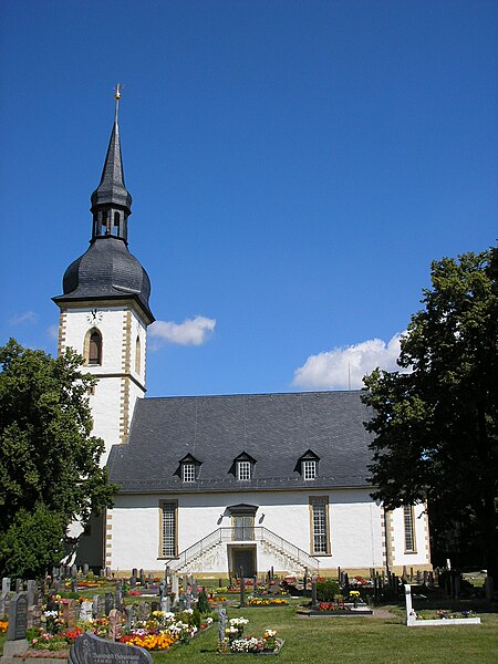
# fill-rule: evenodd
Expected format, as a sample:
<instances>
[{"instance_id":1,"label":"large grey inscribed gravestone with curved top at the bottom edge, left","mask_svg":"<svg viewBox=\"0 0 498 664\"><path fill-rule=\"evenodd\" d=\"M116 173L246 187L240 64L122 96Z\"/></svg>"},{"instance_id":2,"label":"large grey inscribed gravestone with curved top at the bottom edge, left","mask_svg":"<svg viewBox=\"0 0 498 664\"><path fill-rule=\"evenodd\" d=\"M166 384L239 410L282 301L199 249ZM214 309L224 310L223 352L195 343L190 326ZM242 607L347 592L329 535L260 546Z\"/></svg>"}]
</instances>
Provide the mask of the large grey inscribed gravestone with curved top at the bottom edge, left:
<instances>
[{"instance_id":1,"label":"large grey inscribed gravestone with curved top at the bottom edge, left","mask_svg":"<svg viewBox=\"0 0 498 664\"><path fill-rule=\"evenodd\" d=\"M136 645L113 643L85 633L71 646L69 664L153 664L153 658Z\"/></svg>"}]
</instances>

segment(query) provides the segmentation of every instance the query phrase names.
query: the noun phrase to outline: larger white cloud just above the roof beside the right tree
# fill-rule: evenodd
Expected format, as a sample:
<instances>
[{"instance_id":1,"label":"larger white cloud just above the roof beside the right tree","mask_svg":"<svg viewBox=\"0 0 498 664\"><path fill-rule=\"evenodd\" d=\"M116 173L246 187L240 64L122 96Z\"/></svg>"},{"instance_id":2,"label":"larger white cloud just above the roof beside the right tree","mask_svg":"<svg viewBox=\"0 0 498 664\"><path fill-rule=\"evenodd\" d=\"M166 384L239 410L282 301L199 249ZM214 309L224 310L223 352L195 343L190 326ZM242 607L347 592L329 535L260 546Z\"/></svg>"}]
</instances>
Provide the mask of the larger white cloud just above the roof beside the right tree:
<instances>
[{"instance_id":1,"label":"larger white cloud just above the roof beside the right tree","mask_svg":"<svg viewBox=\"0 0 498 664\"><path fill-rule=\"evenodd\" d=\"M363 376L380 366L385 371L401 371L396 364L400 340L395 334L388 343L370 339L350 346L310 355L294 371L292 385L311 390L352 390L363 387Z\"/></svg>"}]
</instances>

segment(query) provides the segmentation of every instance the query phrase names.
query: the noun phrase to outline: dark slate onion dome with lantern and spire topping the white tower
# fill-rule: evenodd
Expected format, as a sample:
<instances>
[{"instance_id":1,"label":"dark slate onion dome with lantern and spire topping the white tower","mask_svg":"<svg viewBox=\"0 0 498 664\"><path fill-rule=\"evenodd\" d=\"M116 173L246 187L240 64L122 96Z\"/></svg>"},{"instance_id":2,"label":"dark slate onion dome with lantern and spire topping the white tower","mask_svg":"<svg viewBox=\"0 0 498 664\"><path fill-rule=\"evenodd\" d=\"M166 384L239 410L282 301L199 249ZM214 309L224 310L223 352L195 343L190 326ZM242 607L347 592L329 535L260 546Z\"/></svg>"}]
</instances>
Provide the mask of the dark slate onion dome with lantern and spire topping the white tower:
<instances>
[{"instance_id":1,"label":"dark slate onion dome with lantern and spire topping the white tower","mask_svg":"<svg viewBox=\"0 0 498 664\"><path fill-rule=\"evenodd\" d=\"M154 321L148 305L151 281L139 261L129 253L127 243L132 196L123 177L117 125L120 97L117 85L114 126L101 181L91 198L93 228L90 248L66 269L62 283L64 294L53 300L56 304L133 300L149 324Z\"/></svg>"}]
</instances>

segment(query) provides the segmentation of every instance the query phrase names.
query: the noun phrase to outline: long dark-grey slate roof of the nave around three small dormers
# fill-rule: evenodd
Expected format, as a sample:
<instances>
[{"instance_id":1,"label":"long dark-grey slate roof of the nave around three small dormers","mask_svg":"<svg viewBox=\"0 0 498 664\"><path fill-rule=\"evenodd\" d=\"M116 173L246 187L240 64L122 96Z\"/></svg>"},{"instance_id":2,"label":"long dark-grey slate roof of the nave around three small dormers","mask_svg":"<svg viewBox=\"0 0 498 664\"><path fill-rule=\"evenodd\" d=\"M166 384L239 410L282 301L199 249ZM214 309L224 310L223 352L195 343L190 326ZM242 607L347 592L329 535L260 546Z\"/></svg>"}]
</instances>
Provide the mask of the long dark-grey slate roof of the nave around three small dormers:
<instances>
[{"instance_id":1,"label":"long dark-grey slate roof of the nave around three small dormers","mask_svg":"<svg viewBox=\"0 0 498 664\"><path fill-rule=\"evenodd\" d=\"M180 494L288 490L367 485L372 439L361 392L305 392L137 400L129 440L107 461L121 492ZM297 461L319 458L319 477L303 480ZM251 480L230 468L246 453L256 459ZM200 461L197 481L183 483L179 461Z\"/></svg>"}]
</instances>

